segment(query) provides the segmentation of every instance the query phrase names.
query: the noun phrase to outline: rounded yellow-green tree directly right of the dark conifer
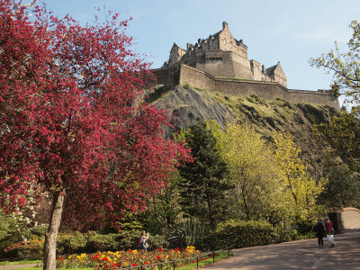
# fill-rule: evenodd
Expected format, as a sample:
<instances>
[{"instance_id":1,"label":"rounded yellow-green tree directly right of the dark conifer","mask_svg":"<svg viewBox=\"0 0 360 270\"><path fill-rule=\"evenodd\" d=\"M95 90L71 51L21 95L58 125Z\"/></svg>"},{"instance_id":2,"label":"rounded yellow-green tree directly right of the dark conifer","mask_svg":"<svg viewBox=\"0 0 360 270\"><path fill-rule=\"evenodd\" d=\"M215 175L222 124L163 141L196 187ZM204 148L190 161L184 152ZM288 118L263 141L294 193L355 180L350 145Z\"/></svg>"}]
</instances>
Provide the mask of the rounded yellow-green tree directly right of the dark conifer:
<instances>
[{"instance_id":1,"label":"rounded yellow-green tree directly right of the dark conifer","mask_svg":"<svg viewBox=\"0 0 360 270\"><path fill-rule=\"evenodd\" d=\"M218 132L220 153L229 167L234 215L277 223L284 209L274 156L266 141L247 125L229 124ZM282 200L280 200L282 201Z\"/></svg>"}]
</instances>

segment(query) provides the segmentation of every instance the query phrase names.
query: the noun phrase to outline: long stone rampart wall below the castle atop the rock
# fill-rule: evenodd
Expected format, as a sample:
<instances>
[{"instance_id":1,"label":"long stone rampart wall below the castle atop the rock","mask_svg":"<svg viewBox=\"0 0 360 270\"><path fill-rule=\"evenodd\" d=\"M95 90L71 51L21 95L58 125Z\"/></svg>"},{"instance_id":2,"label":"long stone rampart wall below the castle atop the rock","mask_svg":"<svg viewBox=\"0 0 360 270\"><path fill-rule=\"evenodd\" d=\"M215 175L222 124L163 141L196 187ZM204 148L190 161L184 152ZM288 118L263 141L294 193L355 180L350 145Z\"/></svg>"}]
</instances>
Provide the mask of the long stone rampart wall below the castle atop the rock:
<instances>
[{"instance_id":1,"label":"long stone rampart wall below the castle atop the rock","mask_svg":"<svg viewBox=\"0 0 360 270\"><path fill-rule=\"evenodd\" d=\"M263 99L283 98L289 103L314 103L339 109L338 99L329 94L327 90L293 90L276 82L215 77L184 64L180 65L177 70L168 67L159 68L154 73L157 76L157 83L162 85L191 85L230 95L257 94Z\"/></svg>"}]
</instances>

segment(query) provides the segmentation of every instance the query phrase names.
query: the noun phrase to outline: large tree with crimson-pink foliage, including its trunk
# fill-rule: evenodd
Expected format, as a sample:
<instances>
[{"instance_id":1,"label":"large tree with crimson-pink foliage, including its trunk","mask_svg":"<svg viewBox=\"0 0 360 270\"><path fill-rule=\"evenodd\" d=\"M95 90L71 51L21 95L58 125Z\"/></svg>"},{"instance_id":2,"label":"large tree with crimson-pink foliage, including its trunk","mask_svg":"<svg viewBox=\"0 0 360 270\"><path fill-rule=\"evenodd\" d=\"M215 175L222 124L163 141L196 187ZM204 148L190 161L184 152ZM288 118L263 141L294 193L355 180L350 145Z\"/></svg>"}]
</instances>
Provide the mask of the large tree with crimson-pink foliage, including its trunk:
<instances>
[{"instance_id":1,"label":"large tree with crimson-pink foliage, including its trunk","mask_svg":"<svg viewBox=\"0 0 360 270\"><path fill-rule=\"evenodd\" d=\"M138 100L154 77L130 50L128 22L106 17L82 26L0 3L0 206L16 211L49 196L44 269L56 267L60 221L116 226L189 158L163 138L166 112Z\"/></svg>"}]
</instances>

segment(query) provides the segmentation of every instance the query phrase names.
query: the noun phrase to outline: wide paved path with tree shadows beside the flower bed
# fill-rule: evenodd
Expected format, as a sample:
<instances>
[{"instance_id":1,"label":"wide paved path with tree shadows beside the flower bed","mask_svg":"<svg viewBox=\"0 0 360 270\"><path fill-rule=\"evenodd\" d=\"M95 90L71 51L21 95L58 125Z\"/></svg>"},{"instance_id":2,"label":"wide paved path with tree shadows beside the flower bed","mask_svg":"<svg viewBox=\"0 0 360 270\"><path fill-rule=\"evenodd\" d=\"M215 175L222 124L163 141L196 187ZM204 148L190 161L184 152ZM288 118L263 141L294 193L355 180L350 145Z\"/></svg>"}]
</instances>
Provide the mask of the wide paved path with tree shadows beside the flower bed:
<instances>
[{"instance_id":1,"label":"wide paved path with tree shadows beside the flower bed","mask_svg":"<svg viewBox=\"0 0 360 270\"><path fill-rule=\"evenodd\" d=\"M360 269L360 224L347 233L335 235L335 247L329 247L324 238L324 247L318 246L318 238L268 245L233 249L233 257L225 259L210 269Z\"/></svg>"}]
</instances>

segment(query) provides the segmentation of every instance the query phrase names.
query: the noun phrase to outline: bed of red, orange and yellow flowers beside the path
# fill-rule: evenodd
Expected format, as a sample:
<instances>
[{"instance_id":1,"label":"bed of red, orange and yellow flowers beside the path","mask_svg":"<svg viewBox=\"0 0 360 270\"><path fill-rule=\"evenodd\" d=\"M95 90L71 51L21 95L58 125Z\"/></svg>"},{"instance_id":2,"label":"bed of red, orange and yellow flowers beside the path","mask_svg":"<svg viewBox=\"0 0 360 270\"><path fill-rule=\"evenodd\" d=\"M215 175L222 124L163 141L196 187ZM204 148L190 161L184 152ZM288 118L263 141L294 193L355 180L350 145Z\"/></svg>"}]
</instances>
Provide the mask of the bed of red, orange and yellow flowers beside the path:
<instances>
[{"instance_id":1,"label":"bed of red, orange and yellow flowers beside the path","mask_svg":"<svg viewBox=\"0 0 360 270\"><path fill-rule=\"evenodd\" d=\"M58 257L58 267L94 267L94 269L117 269L136 266L152 266L148 269L156 269L158 264L170 261L189 259L201 255L195 247L186 247L182 251L179 248L145 252L143 250L129 250L116 252L98 252L96 254L70 255ZM166 269L166 266L162 267Z\"/></svg>"}]
</instances>

